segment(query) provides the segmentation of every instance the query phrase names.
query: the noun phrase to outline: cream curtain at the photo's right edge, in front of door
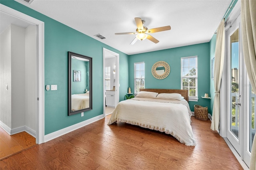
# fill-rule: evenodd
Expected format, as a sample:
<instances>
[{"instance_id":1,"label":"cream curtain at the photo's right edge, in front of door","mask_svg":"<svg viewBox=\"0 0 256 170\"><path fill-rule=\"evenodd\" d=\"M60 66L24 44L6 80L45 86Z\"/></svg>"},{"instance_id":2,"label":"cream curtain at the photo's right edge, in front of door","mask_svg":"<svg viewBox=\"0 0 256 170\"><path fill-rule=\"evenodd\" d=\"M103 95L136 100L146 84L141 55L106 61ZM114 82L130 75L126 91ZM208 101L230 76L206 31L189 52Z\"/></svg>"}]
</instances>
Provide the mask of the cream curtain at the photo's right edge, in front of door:
<instances>
[{"instance_id":1,"label":"cream curtain at the photo's right edge, in front of door","mask_svg":"<svg viewBox=\"0 0 256 170\"><path fill-rule=\"evenodd\" d=\"M256 0L241 1L242 41L244 63L252 85L256 92ZM256 169L256 135L252 143L250 170Z\"/></svg>"}]
</instances>

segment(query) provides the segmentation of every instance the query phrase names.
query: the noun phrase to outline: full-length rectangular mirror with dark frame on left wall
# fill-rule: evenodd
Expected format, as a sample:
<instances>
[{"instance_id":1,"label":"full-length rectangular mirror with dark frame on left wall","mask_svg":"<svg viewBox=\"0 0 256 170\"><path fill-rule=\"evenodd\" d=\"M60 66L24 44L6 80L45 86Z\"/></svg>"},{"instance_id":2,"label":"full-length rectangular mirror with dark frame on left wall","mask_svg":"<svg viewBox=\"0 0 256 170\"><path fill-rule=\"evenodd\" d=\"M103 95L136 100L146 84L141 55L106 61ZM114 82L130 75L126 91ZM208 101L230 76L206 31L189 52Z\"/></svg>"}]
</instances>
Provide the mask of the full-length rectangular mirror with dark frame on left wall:
<instances>
[{"instance_id":1,"label":"full-length rectangular mirror with dark frame on left wall","mask_svg":"<svg viewBox=\"0 0 256 170\"><path fill-rule=\"evenodd\" d=\"M68 115L92 110L92 58L68 52Z\"/></svg>"}]
</instances>

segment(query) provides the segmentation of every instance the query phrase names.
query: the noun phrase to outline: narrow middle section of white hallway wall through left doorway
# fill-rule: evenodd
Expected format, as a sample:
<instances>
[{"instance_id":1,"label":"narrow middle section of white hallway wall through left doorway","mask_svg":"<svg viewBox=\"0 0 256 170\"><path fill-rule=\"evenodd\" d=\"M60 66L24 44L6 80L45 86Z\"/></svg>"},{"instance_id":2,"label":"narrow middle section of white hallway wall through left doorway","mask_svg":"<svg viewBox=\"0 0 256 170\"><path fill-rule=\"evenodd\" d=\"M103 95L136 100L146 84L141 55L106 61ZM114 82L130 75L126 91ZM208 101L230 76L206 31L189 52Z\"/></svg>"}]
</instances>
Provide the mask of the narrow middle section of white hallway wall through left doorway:
<instances>
[{"instance_id":1,"label":"narrow middle section of white hallway wall through left doorway","mask_svg":"<svg viewBox=\"0 0 256 170\"><path fill-rule=\"evenodd\" d=\"M11 24L12 129L25 125L25 28Z\"/></svg>"}]
</instances>

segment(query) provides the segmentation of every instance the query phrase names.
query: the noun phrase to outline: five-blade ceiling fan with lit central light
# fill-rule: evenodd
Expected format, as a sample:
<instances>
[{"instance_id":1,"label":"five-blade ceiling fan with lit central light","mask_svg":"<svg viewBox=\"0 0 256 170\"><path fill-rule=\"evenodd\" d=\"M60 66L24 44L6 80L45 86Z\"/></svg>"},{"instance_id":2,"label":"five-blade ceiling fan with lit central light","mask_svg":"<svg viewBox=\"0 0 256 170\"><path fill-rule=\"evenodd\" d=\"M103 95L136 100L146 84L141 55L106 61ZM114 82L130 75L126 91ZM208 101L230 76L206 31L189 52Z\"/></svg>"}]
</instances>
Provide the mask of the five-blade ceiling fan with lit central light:
<instances>
[{"instance_id":1,"label":"five-blade ceiling fan with lit central light","mask_svg":"<svg viewBox=\"0 0 256 170\"><path fill-rule=\"evenodd\" d=\"M159 41L156 40L156 38L150 36L148 33L161 32L161 31L166 31L171 29L171 26L164 26L164 27L152 28L148 30L148 28L144 26L145 24L144 20L141 20L141 18L134 18L134 19L137 25L136 32L115 33L115 35L137 34L134 40L132 40L132 42L130 43L131 45L136 43L137 40L142 41L145 39L148 39L154 43L158 43Z\"/></svg>"}]
</instances>

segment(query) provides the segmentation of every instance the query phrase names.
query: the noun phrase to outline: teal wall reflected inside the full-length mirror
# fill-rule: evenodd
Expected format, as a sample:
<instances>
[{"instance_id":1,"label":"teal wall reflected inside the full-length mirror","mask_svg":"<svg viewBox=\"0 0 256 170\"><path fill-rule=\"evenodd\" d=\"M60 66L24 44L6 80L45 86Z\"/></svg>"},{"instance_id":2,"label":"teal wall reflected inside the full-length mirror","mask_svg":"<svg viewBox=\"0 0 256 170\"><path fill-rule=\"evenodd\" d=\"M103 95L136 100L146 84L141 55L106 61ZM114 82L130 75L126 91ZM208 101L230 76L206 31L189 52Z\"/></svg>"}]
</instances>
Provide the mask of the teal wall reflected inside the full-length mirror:
<instances>
[{"instance_id":1,"label":"teal wall reflected inside the full-length mirror","mask_svg":"<svg viewBox=\"0 0 256 170\"><path fill-rule=\"evenodd\" d=\"M89 61L82 61L79 59L71 59L71 91L73 94L84 93L86 89L89 89ZM87 70L88 69L88 70ZM74 81L74 70L81 71L81 81Z\"/></svg>"}]
</instances>

